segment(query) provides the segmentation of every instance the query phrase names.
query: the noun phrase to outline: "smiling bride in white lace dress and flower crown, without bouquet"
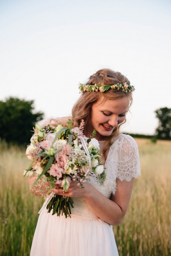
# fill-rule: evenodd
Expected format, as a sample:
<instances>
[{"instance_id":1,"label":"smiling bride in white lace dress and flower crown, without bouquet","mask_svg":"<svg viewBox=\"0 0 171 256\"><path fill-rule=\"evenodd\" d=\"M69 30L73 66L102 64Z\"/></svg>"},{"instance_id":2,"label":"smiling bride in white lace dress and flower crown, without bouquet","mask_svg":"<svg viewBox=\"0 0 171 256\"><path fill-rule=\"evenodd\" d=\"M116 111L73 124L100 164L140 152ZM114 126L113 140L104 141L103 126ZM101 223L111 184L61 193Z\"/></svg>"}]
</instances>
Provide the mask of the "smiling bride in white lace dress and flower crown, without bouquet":
<instances>
[{"instance_id":1,"label":"smiling bride in white lace dress and flower crown, without bouquet","mask_svg":"<svg viewBox=\"0 0 171 256\"><path fill-rule=\"evenodd\" d=\"M98 85L99 90L92 85ZM84 188L70 183L65 195L74 201L71 218L41 209L31 256L118 255L112 225L122 222L134 179L140 174L137 144L119 131L132 103L133 89L125 76L110 69L97 71L81 86L83 93L73 107L72 123L79 126L84 119L86 137L96 129L107 177L103 186L93 178ZM67 119L48 120L44 125L58 125ZM54 193L63 195L62 188L55 187Z\"/></svg>"}]
</instances>

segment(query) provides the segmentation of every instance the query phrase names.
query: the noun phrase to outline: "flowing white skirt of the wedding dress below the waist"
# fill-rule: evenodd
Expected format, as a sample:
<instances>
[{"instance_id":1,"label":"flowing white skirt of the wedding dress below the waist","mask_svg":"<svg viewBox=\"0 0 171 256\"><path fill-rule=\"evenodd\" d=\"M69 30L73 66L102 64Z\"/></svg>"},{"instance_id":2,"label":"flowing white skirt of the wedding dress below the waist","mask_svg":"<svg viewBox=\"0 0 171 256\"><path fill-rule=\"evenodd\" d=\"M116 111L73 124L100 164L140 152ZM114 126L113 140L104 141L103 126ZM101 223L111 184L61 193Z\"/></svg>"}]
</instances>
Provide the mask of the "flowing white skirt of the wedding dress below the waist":
<instances>
[{"instance_id":1,"label":"flowing white skirt of the wedding dress below the waist","mask_svg":"<svg viewBox=\"0 0 171 256\"><path fill-rule=\"evenodd\" d=\"M99 218L40 213L30 256L118 256L112 226Z\"/></svg>"}]
</instances>

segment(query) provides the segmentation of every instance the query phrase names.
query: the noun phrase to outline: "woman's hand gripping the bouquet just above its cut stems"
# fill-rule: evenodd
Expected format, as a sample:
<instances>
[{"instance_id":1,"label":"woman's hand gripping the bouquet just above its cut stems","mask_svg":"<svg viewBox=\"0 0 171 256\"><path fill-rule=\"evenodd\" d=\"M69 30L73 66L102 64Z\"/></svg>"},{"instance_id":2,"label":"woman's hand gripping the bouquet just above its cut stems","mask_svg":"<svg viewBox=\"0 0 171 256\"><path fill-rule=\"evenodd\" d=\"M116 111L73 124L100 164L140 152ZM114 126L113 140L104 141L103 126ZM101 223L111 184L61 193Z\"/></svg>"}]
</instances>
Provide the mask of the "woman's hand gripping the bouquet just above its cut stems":
<instances>
[{"instance_id":1,"label":"woman's hand gripping the bouquet just above its cut stems","mask_svg":"<svg viewBox=\"0 0 171 256\"><path fill-rule=\"evenodd\" d=\"M67 197L83 197L86 198L91 193L91 190L93 189L93 186L89 184L88 182L84 183L84 188L82 188L80 185L77 184L76 181L71 181L70 186L67 189L66 192L63 193L63 188L57 186L54 188L54 193L57 195L65 196Z\"/></svg>"}]
</instances>

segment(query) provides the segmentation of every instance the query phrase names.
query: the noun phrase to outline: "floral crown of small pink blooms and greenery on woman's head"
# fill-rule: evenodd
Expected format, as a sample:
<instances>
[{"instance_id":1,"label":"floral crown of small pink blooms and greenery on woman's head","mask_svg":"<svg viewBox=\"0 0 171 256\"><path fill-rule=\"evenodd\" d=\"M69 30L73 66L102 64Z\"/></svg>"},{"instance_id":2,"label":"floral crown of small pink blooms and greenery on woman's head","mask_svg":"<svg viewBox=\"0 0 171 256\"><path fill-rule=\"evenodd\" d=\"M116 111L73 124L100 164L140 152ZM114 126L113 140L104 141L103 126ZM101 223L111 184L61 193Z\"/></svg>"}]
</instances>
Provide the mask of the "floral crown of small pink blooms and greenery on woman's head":
<instances>
[{"instance_id":1,"label":"floral crown of small pink blooms and greenery on woman's head","mask_svg":"<svg viewBox=\"0 0 171 256\"><path fill-rule=\"evenodd\" d=\"M101 93L104 93L105 91L108 91L109 89L117 89L122 90L127 93L128 91L134 91L135 88L132 85L128 85L127 83L124 84L114 84L114 85L100 85L100 84L81 84L79 85L80 93L84 93L85 91L100 91Z\"/></svg>"}]
</instances>

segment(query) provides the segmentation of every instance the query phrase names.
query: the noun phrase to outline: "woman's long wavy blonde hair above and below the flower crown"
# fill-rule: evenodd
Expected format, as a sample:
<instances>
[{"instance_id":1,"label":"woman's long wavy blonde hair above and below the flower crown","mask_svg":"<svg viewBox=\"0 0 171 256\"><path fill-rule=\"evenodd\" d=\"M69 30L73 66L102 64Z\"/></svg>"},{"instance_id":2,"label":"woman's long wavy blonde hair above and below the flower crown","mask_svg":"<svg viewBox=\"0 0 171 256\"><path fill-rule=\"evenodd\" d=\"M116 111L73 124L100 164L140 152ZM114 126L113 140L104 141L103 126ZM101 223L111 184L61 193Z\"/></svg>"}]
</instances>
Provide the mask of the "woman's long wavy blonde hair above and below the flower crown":
<instances>
[{"instance_id":1,"label":"woman's long wavy blonde hair above and below the flower crown","mask_svg":"<svg viewBox=\"0 0 171 256\"><path fill-rule=\"evenodd\" d=\"M87 81L86 85L87 84L113 85L117 83L123 84L125 82L128 85L130 85L130 81L127 79L127 77L122 75L120 72L115 72L111 69L100 69L95 74L89 77L89 80ZM123 97L128 97L130 100L129 106L132 104L131 92L126 93L122 90L115 90L115 89L110 89L105 93L101 93L100 91L98 92L85 91L72 108L73 126L79 126L81 123L81 120L83 119L85 122L85 128L86 128L91 107L94 103L96 103L100 99L102 95L104 96L104 100L107 100L107 99L117 100ZM125 122L126 122L126 119L122 124L124 124ZM117 125L110 136L103 137L103 140L105 141L105 145L103 149L104 160L106 160L107 152L113 143L113 139L118 136L119 128L122 124Z\"/></svg>"}]
</instances>

